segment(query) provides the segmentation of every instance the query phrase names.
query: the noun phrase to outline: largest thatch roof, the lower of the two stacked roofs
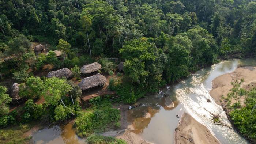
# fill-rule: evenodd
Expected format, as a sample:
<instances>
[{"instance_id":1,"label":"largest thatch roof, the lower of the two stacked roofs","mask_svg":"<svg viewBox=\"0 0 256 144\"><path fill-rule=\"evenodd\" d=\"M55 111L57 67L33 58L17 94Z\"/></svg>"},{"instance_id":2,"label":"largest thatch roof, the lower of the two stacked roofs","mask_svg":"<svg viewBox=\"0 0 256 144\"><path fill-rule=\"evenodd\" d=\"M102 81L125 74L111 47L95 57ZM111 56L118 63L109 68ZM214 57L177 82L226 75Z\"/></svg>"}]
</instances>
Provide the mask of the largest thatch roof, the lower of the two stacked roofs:
<instances>
[{"instance_id":1,"label":"largest thatch roof, the lower of the two stacked roofs","mask_svg":"<svg viewBox=\"0 0 256 144\"><path fill-rule=\"evenodd\" d=\"M96 86L103 86L106 83L106 77L101 74L96 74L82 79L78 84L81 90L87 90Z\"/></svg>"}]
</instances>

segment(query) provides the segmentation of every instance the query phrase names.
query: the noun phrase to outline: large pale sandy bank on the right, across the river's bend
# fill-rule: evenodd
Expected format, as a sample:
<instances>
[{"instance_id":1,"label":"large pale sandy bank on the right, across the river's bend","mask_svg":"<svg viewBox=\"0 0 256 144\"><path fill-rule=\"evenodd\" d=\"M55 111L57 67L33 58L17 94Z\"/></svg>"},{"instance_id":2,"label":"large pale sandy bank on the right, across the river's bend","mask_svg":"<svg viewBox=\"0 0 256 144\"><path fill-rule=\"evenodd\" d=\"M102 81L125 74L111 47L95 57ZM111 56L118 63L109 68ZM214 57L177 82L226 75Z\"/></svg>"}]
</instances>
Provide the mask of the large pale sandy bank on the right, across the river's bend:
<instances>
[{"instance_id":1,"label":"large pale sandy bank on the right, across the river's bend","mask_svg":"<svg viewBox=\"0 0 256 144\"><path fill-rule=\"evenodd\" d=\"M256 86L256 67L246 66L237 68L234 72L227 73L215 78L212 81L212 90L210 91L210 95L212 98L217 100L217 104L221 105L223 109L227 106L227 102L221 100L227 97L227 94L230 92L230 89L233 88L231 82L235 82L238 80L240 82L241 79L244 79L244 82L241 84L241 87L245 90L249 90L252 87ZM244 103L244 96L240 96L239 98L232 98L230 105L235 102L240 101L241 105Z\"/></svg>"}]
</instances>

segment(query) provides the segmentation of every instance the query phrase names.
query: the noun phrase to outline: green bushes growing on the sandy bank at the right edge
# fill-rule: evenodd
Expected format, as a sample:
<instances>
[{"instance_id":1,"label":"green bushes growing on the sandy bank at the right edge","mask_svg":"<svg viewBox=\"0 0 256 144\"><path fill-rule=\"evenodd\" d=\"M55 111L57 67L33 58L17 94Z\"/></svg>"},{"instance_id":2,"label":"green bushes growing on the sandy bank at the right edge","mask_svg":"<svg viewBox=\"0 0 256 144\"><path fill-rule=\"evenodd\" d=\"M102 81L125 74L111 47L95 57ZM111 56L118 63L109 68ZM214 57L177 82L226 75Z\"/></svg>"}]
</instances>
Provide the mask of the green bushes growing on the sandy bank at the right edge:
<instances>
[{"instance_id":1,"label":"green bushes growing on the sandy bank at the right edge","mask_svg":"<svg viewBox=\"0 0 256 144\"><path fill-rule=\"evenodd\" d=\"M239 82L232 82L233 88L231 88L231 92L227 94L226 98L222 98L222 101L227 101L227 113L239 132L248 137L248 139L256 141L256 111L253 110L256 105L256 87L246 91L244 88L240 88L242 82L243 79ZM240 101L239 97L241 96L245 97L244 102ZM232 98L238 99L238 102L233 102L230 105Z\"/></svg>"}]
</instances>

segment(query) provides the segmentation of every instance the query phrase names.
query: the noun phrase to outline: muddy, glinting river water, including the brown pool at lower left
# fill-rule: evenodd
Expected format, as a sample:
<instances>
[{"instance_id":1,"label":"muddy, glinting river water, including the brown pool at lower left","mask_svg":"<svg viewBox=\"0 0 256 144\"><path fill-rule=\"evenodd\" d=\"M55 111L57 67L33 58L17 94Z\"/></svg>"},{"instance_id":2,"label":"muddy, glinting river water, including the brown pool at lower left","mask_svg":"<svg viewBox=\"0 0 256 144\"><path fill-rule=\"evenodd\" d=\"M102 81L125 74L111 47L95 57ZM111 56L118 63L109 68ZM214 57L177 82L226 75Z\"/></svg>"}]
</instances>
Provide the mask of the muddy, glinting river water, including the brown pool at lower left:
<instances>
[{"instance_id":1,"label":"muddy, glinting river water, including the brown pool at lower left","mask_svg":"<svg viewBox=\"0 0 256 144\"><path fill-rule=\"evenodd\" d=\"M163 88L162 91L169 97L153 94L140 99L137 103L143 105L128 111L129 128L148 142L173 144L174 129L178 125L176 115L181 116L186 111L204 124L222 144L247 144L244 137L234 130L212 122L208 111L220 114L223 122L231 126L222 107L215 102L207 102L207 99L212 99L209 94L212 80L241 66L256 66L256 59L222 61L197 71L177 84ZM169 106L169 99L174 106ZM35 144L84 143L84 139L76 136L72 124L64 128L54 126L40 130L33 135L32 140Z\"/></svg>"}]
</instances>

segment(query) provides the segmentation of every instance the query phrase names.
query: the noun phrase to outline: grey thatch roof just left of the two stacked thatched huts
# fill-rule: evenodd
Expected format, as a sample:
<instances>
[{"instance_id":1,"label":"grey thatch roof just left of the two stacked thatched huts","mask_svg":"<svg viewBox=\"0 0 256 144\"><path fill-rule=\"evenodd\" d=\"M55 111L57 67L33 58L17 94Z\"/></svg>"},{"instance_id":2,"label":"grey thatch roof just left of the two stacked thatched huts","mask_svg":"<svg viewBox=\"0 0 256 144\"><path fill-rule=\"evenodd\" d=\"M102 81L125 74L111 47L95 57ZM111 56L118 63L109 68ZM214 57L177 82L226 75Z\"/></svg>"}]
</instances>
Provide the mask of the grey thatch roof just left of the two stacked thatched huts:
<instances>
[{"instance_id":1,"label":"grey thatch roof just left of the two stacked thatched huts","mask_svg":"<svg viewBox=\"0 0 256 144\"><path fill-rule=\"evenodd\" d=\"M46 77L66 77L67 79L72 76L72 72L68 68L59 69L57 71L49 72Z\"/></svg>"}]
</instances>

